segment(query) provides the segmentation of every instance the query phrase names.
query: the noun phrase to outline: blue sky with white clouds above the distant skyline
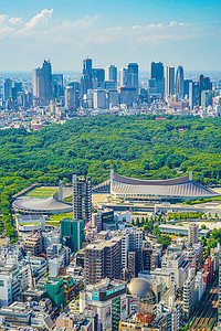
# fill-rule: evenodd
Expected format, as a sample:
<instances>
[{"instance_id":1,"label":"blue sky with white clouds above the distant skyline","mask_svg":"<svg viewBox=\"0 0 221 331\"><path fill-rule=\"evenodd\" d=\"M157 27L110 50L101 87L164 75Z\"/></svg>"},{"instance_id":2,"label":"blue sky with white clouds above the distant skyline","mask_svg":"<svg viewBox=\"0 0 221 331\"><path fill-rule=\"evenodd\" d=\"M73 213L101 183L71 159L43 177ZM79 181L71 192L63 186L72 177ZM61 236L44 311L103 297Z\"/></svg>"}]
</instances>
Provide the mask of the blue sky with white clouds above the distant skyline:
<instances>
[{"instance_id":1,"label":"blue sky with white clouds above the distant skyline","mask_svg":"<svg viewBox=\"0 0 221 331\"><path fill-rule=\"evenodd\" d=\"M0 71L54 71L152 60L186 70L219 71L221 1L0 0Z\"/></svg>"}]
</instances>

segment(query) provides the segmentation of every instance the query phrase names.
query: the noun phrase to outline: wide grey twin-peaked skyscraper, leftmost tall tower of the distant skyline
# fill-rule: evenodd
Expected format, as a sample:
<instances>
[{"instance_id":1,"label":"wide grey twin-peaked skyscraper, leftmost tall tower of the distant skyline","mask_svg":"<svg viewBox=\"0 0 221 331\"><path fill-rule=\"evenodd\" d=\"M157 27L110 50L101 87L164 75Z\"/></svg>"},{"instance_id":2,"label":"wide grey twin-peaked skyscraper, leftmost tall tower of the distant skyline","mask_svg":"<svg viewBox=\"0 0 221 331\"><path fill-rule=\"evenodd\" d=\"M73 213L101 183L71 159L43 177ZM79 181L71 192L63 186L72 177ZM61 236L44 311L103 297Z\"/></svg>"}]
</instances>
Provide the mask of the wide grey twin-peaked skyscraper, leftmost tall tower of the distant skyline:
<instances>
[{"instance_id":1,"label":"wide grey twin-peaked skyscraper, leftmost tall tower of the distant skyline","mask_svg":"<svg viewBox=\"0 0 221 331\"><path fill-rule=\"evenodd\" d=\"M39 98L42 106L52 100L52 67L50 61L43 62L42 67L33 70L33 96Z\"/></svg>"}]
</instances>

